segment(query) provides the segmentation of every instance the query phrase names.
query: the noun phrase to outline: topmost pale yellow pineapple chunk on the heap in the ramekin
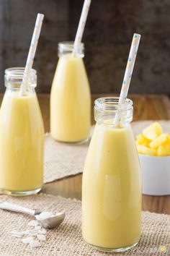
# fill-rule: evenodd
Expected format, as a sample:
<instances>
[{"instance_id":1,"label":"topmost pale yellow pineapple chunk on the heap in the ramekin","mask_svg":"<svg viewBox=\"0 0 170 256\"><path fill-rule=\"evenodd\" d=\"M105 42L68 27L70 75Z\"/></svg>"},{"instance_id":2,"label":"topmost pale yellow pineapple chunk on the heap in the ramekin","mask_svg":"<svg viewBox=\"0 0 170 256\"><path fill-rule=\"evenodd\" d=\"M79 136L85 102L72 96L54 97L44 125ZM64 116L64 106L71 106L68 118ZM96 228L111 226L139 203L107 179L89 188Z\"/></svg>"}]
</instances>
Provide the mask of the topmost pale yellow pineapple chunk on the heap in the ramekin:
<instances>
[{"instance_id":1,"label":"topmost pale yellow pineapple chunk on the heap in the ramekin","mask_svg":"<svg viewBox=\"0 0 170 256\"><path fill-rule=\"evenodd\" d=\"M157 122L151 124L149 127L146 127L146 129L143 129L143 135L148 140L155 140L156 137L162 134L162 128L161 125Z\"/></svg>"}]
</instances>

